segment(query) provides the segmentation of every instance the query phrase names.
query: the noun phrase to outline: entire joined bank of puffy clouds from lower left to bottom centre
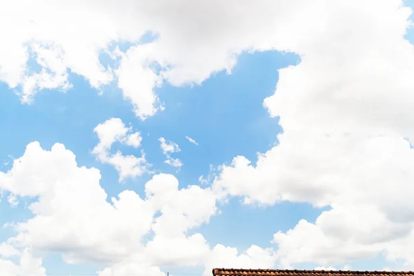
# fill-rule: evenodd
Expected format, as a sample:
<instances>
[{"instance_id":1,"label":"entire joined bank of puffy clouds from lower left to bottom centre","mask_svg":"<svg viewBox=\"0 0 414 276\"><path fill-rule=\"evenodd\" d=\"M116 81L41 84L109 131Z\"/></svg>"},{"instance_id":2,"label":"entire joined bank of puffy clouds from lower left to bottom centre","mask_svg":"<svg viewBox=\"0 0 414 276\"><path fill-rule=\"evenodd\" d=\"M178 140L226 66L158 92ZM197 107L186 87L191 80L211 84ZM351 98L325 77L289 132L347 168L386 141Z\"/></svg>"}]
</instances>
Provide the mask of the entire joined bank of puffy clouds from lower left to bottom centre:
<instances>
[{"instance_id":1,"label":"entire joined bank of puffy clouds from lower left to bottom centre","mask_svg":"<svg viewBox=\"0 0 414 276\"><path fill-rule=\"evenodd\" d=\"M205 264L210 246L201 234L187 233L217 213L220 197L213 190L180 189L174 176L160 174L146 183L145 198L124 190L108 202L100 178L99 170L78 167L62 144L50 151L29 144L8 172L0 172L0 189L31 197L33 217L14 225L17 234L1 245L1 254L16 254L11 245L55 251L68 263L107 265L100 275L162 275L159 266Z\"/></svg>"}]
</instances>

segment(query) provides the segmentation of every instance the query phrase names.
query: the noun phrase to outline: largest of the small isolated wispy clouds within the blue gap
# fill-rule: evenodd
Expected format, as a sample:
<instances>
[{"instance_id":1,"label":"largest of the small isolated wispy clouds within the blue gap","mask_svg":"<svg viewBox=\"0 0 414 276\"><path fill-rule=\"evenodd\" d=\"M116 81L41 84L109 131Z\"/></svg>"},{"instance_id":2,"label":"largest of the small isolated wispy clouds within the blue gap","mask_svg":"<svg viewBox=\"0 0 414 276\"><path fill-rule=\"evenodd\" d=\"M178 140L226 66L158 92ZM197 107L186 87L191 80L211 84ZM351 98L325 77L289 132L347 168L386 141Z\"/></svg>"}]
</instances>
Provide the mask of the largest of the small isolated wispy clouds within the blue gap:
<instances>
[{"instance_id":1,"label":"largest of the small isolated wispy clouds within the blue gap","mask_svg":"<svg viewBox=\"0 0 414 276\"><path fill-rule=\"evenodd\" d=\"M139 132L132 132L132 128L126 128L119 118L111 118L95 127L99 137L99 143L92 150L97 159L103 163L111 164L119 172L119 181L127 177L137 177L148 170L149 164L145 159L144 151L141 157L135 155L123 155L119 150L115 154L110 153L110 148L115 142L120 142L133 148L141 146L142 137Z\"/></svg>"}]
</instances>

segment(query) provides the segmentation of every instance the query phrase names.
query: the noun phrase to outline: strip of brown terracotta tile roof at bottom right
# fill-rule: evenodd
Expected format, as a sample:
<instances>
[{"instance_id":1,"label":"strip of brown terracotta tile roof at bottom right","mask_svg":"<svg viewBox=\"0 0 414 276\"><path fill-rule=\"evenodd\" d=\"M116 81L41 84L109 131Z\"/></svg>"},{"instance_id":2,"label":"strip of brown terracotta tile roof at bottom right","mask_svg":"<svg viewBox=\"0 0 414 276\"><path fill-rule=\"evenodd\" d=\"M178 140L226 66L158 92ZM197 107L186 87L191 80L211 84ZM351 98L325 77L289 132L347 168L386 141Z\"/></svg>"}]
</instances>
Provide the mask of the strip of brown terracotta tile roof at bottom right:
<instances>
[{"instance_id":1,"label":"strip of brown terracotta tile roof at bottom right","mask_svg":"<svg viewBox=\"0 0 414 276\"><path fill-rule=\"evenodd\" d=\"M213 268L214 276L414 276L413 271L334 271Z\"/></svg>"}]
</instances>

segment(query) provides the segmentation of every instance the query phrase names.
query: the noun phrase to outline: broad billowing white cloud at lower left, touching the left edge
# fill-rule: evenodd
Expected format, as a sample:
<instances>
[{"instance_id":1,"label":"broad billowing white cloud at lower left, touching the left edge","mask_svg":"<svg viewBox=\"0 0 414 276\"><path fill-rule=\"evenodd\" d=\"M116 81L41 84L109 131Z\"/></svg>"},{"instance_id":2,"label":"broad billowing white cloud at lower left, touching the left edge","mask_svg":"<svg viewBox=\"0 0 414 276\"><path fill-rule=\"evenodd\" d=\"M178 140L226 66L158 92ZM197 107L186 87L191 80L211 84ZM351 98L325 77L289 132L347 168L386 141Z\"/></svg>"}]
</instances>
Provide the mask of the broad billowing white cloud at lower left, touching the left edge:
<instances>
[{"instance_id":1,"label":"broad billowing white cloud at lower left, touching the left edge","mask_svg":"<svg viewBox=\"0 0 414 276\"><path fill-rule=\"evenodd\" d=\"M34 217L17 224L11 241L61 251L68 262L113 262L139 248L152 225L152 206L129 190L108 203L100 178L95 168L77 167L75 155L61 144L50 151L29 144L12 169L0 173L3 190L38 198L29 207Z\"/></svg>"}]
</instances>

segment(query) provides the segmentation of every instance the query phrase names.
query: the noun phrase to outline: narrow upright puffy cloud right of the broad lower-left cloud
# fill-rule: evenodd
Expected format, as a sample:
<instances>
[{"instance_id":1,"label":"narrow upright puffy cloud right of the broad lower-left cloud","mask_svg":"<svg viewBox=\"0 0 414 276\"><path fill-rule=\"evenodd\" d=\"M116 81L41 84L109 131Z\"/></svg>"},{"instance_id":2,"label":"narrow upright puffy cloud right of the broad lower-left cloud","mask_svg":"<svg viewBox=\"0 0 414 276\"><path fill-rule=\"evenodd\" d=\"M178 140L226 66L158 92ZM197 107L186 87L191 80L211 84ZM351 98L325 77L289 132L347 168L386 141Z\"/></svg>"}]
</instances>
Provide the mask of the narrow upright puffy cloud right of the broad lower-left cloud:
<instances>
[{"instance_id":1,"label":"narrow upright puffy cloud right of the broad lower-left cloud","mask_svg":"<svg viewBox=\"0 0 414 276\"><path fill-rule=\"evenodd\" d=\"M217 195L199 186L177 189L178 181L172 175L156 175L146 184L148 199L162 213L152 226L155 237L146 245L146 253L157 256L165 265L200 264L208 253L208 244L200 234L186 237L185 233L216 213Z\"/></svg>"}]
</instances>

